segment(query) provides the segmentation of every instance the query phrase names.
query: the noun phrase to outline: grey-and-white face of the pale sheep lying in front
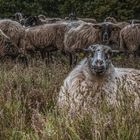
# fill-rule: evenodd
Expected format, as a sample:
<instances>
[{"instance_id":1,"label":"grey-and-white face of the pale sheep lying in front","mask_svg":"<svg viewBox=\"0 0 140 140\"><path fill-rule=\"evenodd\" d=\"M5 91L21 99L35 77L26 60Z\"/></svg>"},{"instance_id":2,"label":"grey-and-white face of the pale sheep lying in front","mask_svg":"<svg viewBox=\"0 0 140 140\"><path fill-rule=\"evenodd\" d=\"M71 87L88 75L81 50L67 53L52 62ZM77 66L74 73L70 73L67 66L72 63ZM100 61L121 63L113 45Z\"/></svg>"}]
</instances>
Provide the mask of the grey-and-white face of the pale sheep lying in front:
<instances>
[{"instance_id":1,"label":"grey-and-white face of the pale sheep lying in front","mask_svg":"<svg viewBox=\"0 0 140 140\"><path fill-rule=\"evenodd\" d=\"M96 75L104 74L111 64L110 56L112 50L104 45L92 45L88 48L91 55L88 57L88 64L91 72Z\"/></svg>"}]
</instances>

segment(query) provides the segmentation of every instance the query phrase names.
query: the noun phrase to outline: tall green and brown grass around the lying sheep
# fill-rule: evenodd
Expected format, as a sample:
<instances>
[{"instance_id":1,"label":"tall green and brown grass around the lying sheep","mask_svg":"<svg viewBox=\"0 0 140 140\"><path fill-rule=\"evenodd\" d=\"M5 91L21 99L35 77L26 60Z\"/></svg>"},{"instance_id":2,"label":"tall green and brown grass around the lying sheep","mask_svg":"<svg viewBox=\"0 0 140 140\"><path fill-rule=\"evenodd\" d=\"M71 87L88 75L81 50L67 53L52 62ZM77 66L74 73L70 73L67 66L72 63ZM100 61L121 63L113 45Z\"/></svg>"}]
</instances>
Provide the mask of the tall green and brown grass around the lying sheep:
<instances>
[{"instance_id":1,"label":"tall green and brown grass around the lying sheep","mask_svg":"<svg viewBox=\"0 0 140 140\"><path fill-rule=\"evenodd\" d=\"M140 69L140 59L117 57L115 66ZM69 119L57 111L56 101L68 62L55 60L47 66L34 61L29 67L0 64L0 140L139 140L140 111L131 102L112 109L101 105L95 123L90 112Z\"/></svg>"}]
</instances>

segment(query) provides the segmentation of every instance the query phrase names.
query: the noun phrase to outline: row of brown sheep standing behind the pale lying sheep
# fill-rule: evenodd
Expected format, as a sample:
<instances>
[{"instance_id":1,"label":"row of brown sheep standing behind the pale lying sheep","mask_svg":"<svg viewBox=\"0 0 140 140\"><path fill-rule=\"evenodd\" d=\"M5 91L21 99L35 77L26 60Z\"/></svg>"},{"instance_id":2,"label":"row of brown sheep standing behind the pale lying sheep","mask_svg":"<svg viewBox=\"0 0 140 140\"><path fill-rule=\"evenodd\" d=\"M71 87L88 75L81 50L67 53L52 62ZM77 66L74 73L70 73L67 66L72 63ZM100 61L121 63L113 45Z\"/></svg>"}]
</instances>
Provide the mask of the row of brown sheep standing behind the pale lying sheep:
<instances>
[{"instance_id":1,"label":"row of brown sheep standing behind the pale lying sheep","mask_svg":"<svg viewBox=\"0 0 140 140\"><path fill-rule=\"evenodd\" d=\"M115 50L139 53L140 25L137 22L117 22L108 17L97 23L95 19L73 15L65 19L51 19L43 15L23 18L21 13L16 13L14 20L0 20L0 57L27 58L40 52L44 59L59 50L69 56L72 65L77 52L96 43L109 45Z\"/></svg>"}]
</instances>

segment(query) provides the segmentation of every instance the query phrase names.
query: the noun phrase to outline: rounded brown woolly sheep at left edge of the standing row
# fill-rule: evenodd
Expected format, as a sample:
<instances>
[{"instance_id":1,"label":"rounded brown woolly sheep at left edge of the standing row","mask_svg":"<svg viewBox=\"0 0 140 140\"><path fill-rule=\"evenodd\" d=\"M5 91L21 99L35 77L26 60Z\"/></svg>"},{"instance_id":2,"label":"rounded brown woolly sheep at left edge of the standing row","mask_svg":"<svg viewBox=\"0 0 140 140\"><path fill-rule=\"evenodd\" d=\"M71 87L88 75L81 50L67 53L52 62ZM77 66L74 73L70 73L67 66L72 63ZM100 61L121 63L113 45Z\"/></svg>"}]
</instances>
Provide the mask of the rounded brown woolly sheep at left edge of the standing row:
<instances>
[{"instance_id":1,"label":"rounded brown woolly sheep at left edge of the standing row","mask_svg":"<svg viewBox=\"0 0 140 140\"><path fill-rule=\"evenodd\" d=\"M15 48L18 48L19 54L24 54L24 28L16 21L0 20L0 29L7 35Z\"/></svg>"}]
</instances>

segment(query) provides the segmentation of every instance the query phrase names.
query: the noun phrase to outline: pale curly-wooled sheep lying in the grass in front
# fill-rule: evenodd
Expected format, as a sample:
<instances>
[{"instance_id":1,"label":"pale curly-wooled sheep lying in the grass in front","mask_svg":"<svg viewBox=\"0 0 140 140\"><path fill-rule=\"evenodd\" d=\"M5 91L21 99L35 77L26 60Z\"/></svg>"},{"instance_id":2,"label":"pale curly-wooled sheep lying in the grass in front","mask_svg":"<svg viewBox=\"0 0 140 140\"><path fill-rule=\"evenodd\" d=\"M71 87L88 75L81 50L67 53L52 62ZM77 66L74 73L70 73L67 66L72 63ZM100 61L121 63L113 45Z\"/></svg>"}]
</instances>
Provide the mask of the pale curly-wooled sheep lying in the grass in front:
<instances>
[{"instance_id":1,"label":"pale curly-wooled sheep lying in the grass in front","mask_svg":"<svg viewBox=\"0 0 140 140\"><path fill-rule=\"evenodd\" d=\"M132 96L137 109L140 104L140 70L115 68L109 46L94 44L86 51L91 55L70 72L61 86L57 102L60 111L65 110L70 116L83 111L93 113L103 100L113 107L120 105L122 96Z\"/></svg>"}]
</instances>

